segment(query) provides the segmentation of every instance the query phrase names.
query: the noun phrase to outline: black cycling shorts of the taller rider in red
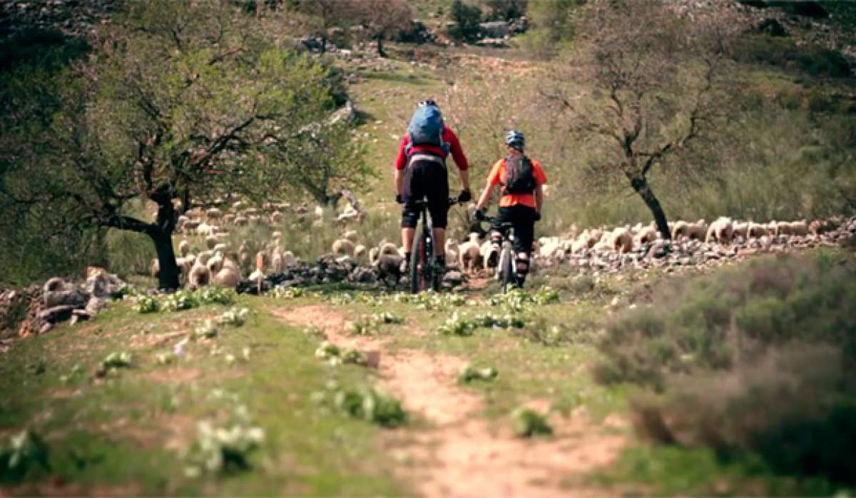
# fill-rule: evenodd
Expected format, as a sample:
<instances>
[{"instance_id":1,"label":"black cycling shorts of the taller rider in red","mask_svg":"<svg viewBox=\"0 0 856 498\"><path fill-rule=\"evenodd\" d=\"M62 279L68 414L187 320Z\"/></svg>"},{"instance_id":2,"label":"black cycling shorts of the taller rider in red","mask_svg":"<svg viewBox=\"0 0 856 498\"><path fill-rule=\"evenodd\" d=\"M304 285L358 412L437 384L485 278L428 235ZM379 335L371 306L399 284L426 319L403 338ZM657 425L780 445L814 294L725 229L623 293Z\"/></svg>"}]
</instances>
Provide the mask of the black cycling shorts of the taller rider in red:
<instances>
[{"instance_id":1,"label":"black cycling shorts of the taller rider in red","mask_svg":"<svg viewBox=\"0 0 856 498\"><path fill-rule=\"evenodd\" d=\"M401 228L416 228L421 211L413 205L413 201L425 198L431 214L431 226L446 228L449 214L449 175L446 167L437 161L413 161L407 166L404 181Z\"/></svg>"}]
</instances>

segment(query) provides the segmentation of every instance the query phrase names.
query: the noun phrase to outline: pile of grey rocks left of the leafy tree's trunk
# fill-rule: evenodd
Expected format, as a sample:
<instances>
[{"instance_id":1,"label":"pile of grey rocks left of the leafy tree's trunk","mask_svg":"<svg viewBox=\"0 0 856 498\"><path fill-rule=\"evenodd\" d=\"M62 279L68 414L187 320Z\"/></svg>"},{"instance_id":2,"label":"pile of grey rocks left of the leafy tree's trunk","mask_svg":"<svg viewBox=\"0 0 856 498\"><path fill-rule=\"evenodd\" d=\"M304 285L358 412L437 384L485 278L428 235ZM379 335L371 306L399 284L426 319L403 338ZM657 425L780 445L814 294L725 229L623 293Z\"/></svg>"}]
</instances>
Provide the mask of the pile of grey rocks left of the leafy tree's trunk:
<instances>
[{"instance_id":1,"label":"pile of grey rocks left of the leafy tree's trunk","mask_svg":"<svg viewBox=\"0 0 856 498\"><path fill-rule=\"evenodd\" d=\"M88 320L103 310L110 299L121 299L126 287L122 279L104 270L90 271L82 283L51 278L37 292L28 294L27 317L21 322L18 335L44 334L57 323Z\"/></svg>"}]
</instances>

